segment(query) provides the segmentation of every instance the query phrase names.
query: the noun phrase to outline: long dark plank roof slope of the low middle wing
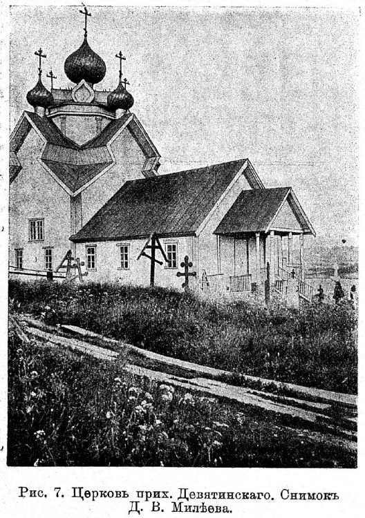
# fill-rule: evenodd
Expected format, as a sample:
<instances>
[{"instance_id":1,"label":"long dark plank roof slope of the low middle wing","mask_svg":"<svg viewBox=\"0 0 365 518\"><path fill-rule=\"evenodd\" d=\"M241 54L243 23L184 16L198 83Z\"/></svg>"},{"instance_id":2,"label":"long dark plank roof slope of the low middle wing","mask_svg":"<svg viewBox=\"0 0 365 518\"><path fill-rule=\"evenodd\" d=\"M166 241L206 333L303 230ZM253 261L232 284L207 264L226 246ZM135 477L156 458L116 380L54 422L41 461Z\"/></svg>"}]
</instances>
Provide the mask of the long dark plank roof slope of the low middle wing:
<instances>
[{"instance_id":1,"label":"long dark plank roof slope of the low middle wing","mask_svg":"<svg viewBox=\"0 0 365 518\"><path fill-rule=\"evenodd\" d=\"M126 182L85 226L75 242L191 236L247 160ZM242 174L245 174L243 171Z\"/></svg>"}]
</instances>

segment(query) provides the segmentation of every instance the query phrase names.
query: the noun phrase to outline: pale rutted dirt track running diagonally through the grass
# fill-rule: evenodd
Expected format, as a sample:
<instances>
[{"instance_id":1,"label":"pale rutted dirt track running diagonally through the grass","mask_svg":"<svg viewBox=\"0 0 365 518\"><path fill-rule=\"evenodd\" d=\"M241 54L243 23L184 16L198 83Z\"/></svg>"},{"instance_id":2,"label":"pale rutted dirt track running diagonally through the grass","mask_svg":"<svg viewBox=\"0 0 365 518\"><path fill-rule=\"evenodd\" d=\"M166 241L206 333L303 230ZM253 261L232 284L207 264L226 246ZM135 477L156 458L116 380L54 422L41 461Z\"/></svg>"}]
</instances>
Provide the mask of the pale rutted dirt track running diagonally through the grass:
<instances>
[{"instance_id":1,"label":"pale rutted dirt track running diagonally through the grass","mask_svg":"<svg viewBox=\"0 0 365 518\"><path fill-rule=\"evenodd\" d=\"M266 386L265 383L263 383L265 390L238 387L216 379L216 377L222 373L230 374L225 371L175 360L175 358L167 358L160 354L147 352L137 347L120 343L118 340L104 338L95 333L88 332L85 329L73 326L62 326L62 331L68 333L73 332L73 334L77 333L84 338L83 340L79 340L73 337L60 336L59 329L45 326L39 322L39 320L33 320L32 318L23 318L19 320L19 323L15 324L20 325L23 332L28 336L40 338L44 345L67 347L101 360L115 361L120 358L120 353L108 347L100 347L99 345L95 345L95 343L89 343L86 341L87 338L94 341L102 340L103 345L107 343L110 345L113 344L114 349L117 348L116 346L118 345L120 352L123 351L123 356L127 358L127 365L123 368L131 374L146 377L161 383L168 383L174 387L182 387L191 392L239 403L254 409L256 412L272 414L275 419L279 418L283 423L292 425L295 428L310 428L310 430L314 432L341 437L348 443L348 448L355 448L357 430L355 396L308 389L307 387L300 387L299 385L291 385L288 383L277 384L286 385L287 390L288 385L294 387L290 395L283 395L268 391L269 383L274 383L274 387L275 383L277 383L271 382L270 380L263 380L266 382ZM130 355L129 352L133 354ZM133 356L135 357L135 354L138 354L140 358L155 361L156 365L153 365L153 369L140 365L140 361L138 362L139 365L133 365ZM166 372L166 369L164 370L164 365L167 367L178 367L178 374L169 374L169 372ZM247 377L253 378L253 376ZM261 380L261 378L254 378L254 381L257 380ZM305 396L305 398L299 396Z\"/></svg>"}]
</instances>

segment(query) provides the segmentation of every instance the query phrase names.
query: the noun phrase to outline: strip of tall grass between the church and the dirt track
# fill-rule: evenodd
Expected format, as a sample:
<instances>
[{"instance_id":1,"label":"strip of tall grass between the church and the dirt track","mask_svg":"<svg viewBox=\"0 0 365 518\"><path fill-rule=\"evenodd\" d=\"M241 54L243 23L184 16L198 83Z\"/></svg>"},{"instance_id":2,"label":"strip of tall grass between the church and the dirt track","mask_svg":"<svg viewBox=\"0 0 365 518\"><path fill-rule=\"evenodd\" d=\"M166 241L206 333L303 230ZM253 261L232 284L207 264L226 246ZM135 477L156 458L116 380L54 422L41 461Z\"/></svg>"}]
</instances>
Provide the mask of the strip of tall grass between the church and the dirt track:
<instances>
[{"instance_id":1,"label":"strip of tall grass between the church and the dirt track","mask_svg":"<svg viewBox=\"0 0 365 518\"><path fill-rule=\"evenodd\" d=\"M10 281L10 306L234 374L355 394L357 312L348 303L269 311L241 300L120 285Z\"/></svg>"}]
</instances>

